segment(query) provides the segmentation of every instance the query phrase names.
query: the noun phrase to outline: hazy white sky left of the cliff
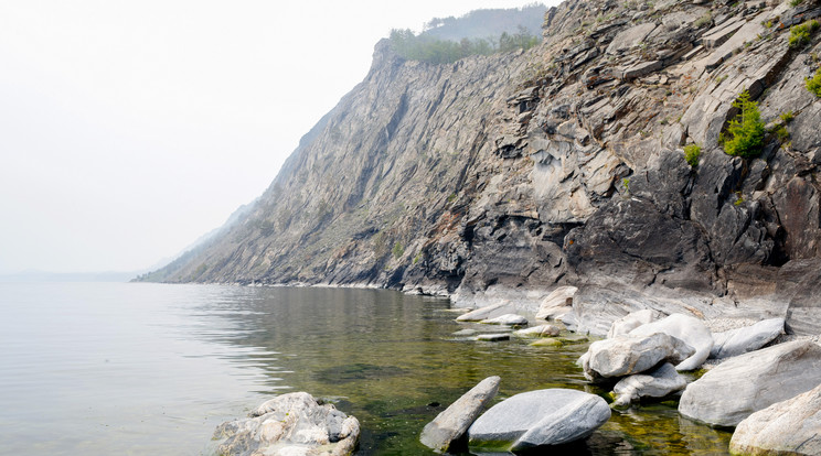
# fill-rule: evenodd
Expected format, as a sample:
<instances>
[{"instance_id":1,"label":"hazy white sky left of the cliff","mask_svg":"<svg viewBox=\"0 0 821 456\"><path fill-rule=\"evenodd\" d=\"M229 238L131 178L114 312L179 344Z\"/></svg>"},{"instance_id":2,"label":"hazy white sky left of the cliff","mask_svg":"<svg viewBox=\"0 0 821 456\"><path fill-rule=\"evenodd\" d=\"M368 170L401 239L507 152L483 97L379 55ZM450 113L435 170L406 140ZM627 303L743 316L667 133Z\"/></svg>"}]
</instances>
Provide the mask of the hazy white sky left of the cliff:
<instances>
[{"instance_id":1,"label":"hazy white sky left of the cliff","mask_svg":"<svg viewBox=\"0 0 821 456\"><path fill-rule=\"evenodd\" d=\"M154 265L265 191L392 28L527 2L1 1L0 273Z\"/></svg>"}]
</instances>

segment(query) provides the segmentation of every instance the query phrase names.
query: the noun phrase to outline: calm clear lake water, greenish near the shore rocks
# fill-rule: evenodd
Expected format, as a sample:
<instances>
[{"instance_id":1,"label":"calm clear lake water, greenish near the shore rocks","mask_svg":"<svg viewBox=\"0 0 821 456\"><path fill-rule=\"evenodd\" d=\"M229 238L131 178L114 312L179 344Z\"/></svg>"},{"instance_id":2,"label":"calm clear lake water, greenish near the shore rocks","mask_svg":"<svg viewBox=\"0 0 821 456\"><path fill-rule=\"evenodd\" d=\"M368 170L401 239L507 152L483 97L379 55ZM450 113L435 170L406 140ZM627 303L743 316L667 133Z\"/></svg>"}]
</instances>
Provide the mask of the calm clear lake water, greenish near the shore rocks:
<instances>
[{"instance_id":1,"label":"calm clear lake water, greenish near the shore rocks","mask_svg":"<svg viewBox=\"0 0 821 456\"><path fill-rule=\"evenodd\" d=\"M606 395L574 363L585 344L456 338L476 325L446 300L390 291L0 283L0 311L2 455L213 455L217 424L289 391L354 414L359 455L433 455L422 427L486 377L500 399ZM585 453L726 454L728 438L668 403L614 413Z\"/></svg>"}]
</instances>

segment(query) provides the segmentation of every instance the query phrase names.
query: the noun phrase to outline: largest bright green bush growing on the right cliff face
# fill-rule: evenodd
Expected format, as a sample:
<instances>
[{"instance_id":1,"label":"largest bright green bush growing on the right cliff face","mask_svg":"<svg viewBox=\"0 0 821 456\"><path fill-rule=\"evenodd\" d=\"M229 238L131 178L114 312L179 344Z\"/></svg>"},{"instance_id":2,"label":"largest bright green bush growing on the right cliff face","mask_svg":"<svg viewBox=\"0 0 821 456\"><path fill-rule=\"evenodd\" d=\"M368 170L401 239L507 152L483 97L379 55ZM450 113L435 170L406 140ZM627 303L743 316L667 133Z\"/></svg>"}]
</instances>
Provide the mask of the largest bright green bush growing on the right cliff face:
<instances>
[{"instance_id":1,"label":"largest bright green bush growing on the right cliff face","mask_svg":"<svg viewBox=\"0 0 821 456\"><path fill-rule=\"evenodd\" d=\"M764 122L758 111L758 104L749 99L749 93L744 90L733 107L740 112L729 121L727 132L722 133L721 141L724 152L728 155L751 159L761 153L764 145Z\"/></svg>"}]
</instances>

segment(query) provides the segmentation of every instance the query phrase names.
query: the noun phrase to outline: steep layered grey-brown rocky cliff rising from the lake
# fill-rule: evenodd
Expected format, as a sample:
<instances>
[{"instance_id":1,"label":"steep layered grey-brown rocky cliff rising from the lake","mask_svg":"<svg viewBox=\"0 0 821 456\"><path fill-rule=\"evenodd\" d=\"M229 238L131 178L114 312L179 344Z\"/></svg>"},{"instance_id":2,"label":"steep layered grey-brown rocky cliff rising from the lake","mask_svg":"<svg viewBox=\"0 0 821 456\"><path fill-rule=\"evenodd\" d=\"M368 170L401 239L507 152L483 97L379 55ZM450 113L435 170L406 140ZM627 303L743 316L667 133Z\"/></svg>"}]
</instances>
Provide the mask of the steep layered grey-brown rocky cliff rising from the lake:
<instances>
[{"instance_id":1,"label":"steep layered grey-brown rocky cliff rising from the lake","mask_svg":"<svg viewBox=\"0 0 821 456\"><path fill-rule=\"evenodd\" d=\"M789 44L819 15L568 0L527 52L429 65L380 42L248 214L153 276L520 305L574 284L579 330L650 306L819 334L821 33ZM754 159L719 144L744 90L769 127Z\"/></svg>"}]
</instances>

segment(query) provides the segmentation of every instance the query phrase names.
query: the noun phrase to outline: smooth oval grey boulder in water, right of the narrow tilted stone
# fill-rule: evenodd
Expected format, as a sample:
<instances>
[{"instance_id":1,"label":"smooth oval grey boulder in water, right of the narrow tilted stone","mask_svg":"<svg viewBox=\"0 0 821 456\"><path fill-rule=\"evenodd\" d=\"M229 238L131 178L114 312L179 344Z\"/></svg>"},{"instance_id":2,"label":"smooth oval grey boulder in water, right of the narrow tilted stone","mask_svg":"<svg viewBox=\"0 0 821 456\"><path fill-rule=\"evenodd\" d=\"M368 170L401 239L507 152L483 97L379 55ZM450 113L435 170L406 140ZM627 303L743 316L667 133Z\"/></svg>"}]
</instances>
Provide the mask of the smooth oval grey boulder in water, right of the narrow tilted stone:
<instances>
[{"instance_id":1,"label":"smooth oval grey boulder in water, right of the narrow tilted stone","mask_svg":"<svg viewBox=\"0 0 821 456\"><path fill-rule=\"evenodd\" d=\"M610 419L604 399L583 391L547 389L509 398L468 430L471 447L518 452L585 438Z\"/></svg>"}]
</instances>

